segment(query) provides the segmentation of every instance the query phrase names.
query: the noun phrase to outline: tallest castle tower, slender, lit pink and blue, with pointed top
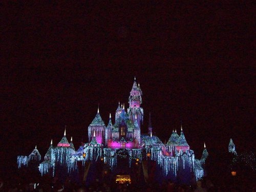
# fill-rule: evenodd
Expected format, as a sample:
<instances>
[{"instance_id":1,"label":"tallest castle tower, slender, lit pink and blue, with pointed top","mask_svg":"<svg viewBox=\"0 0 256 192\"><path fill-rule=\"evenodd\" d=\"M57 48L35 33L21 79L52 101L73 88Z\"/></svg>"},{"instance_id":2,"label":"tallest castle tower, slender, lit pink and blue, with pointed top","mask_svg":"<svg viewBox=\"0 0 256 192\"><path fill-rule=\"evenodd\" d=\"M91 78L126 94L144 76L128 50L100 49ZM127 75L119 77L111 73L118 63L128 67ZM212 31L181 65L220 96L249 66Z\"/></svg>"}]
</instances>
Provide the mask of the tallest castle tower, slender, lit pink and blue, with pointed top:
<instances>
[{"instance_id":1,"label":"tallest castle tower, slender, lit pink and blue, with pointed top","mask_svg":"<svg viewBox=\"0 0 256 192\"><path fill-rule=\"evenodd\" d=\"M137 86L136 78L134 77L134 83L132 91L130 92L129 97L129 108L127 113L130 116L131 121L135 122L135 115L137 115L137 123L139 125L143 122L143 109L140 107L142 103L142 91L140 87Z\"/></svg>"}]
</instances>

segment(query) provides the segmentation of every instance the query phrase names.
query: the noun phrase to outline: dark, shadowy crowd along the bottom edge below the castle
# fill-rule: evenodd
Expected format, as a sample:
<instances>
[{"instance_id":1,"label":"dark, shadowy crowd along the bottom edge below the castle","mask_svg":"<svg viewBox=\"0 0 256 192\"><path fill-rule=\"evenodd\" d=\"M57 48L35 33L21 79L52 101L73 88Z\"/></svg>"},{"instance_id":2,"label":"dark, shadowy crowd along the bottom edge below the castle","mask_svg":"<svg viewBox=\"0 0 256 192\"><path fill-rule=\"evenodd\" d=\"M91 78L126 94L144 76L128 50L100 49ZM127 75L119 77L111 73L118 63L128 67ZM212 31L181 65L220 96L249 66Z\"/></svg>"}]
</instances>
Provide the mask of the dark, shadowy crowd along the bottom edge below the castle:
<instances>
[{"instance_id":1,"label":"dark, shadowy crowd along the bottom edge below the castle","mask_svg":"<svg viewBox=\"0 0 256 192\"><path fill-rule=\"evenodd\" d=\"M13 192L13 191L71 191L71 192L83 192L83 191L256 191L256 184L248 184L246 182L236 181L216 183L211 179L204 178L197 182L195 185L181 185L175 184L171 181L163 181L162 183L106 183L96 179L90 185L81 185L73 183L68 179L61 183L57 177L42 177L39 183L33 183L25 181L22 178L9 179L8 181L1 180L0 191ZM223 178L223 181L225 179ZM22 181L22 182L20 182ZM241 184L244 183L244 184Z\"/></svg>"}]
</instances>

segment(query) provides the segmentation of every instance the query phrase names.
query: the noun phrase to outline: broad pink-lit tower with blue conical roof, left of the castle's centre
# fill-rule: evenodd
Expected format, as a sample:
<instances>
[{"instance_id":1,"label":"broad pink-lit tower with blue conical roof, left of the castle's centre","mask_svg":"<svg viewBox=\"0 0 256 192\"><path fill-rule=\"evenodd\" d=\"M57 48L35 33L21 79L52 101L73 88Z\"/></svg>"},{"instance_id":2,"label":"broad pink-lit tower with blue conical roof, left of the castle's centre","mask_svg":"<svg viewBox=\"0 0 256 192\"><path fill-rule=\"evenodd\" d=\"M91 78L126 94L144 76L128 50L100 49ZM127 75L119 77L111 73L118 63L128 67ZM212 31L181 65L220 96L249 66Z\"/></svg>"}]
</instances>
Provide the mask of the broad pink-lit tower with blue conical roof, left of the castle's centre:
<instances>
[{"instance_id":1,"label":"broad pink-lit tower with blue conical roof, left of the castle's centre","mask_svg":"<svg viewBox=\"0 0 256 192\"><path fill-rule=\"evenodd\" d=\"M94 134L95 131L95 137L97 140L97 143L99 144L103 144L104 143L104 136L105 136L105 129L106 126L99 114L99 108L98 108L98 112L95 116L95 118L93 119L93 121L91 122L91 124L88 127L88 140L89 143L92 140L92 136Z\"/></svg>"}]
</instances>

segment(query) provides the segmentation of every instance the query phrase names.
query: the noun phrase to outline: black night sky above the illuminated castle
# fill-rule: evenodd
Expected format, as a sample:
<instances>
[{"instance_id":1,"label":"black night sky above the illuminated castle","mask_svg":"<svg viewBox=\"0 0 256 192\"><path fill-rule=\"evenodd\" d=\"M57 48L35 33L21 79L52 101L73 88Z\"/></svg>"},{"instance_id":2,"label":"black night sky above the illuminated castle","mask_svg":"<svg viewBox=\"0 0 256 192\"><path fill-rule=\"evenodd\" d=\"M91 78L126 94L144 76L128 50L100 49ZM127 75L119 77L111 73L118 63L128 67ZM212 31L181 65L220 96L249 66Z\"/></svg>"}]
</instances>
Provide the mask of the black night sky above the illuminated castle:
<instances>
[{"instance_id":1,"label":"black night sky above the illuminated castle","mask_svg":"<svg viewBox=\"0 0 256 192\"><path fill-rule=\"evenodd\" d=\"M98 103L107 123L135 75L142 132L151 112L162 141L182 120L198 158L204 141L255 151L253 4L228 2L2 2L2 164L35 145L44 156L65 124L75 147L87 141Z\"/></svg>"}]
</instances>

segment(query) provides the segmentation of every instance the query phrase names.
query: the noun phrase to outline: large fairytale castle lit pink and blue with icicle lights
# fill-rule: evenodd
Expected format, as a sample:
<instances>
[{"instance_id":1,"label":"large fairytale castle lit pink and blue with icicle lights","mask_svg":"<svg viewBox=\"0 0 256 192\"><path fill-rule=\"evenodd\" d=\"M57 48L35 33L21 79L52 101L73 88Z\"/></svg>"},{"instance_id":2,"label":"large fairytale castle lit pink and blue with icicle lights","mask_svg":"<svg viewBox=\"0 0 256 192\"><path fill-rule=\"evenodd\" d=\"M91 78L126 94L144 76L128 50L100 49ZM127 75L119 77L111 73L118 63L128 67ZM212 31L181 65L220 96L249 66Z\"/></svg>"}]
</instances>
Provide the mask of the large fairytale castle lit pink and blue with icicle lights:
<instances>
[{"instance_id":1,"label":"large fairytale castle lit pink and blue with icicle lights","mask_svg":"<svg viewBox=\"0 0 256 192\"><path fill-rule=\"evenodd\" d=\"M173 131L167 142L163 144L161 140L152 134L151 116L148 123L148 133L141 134L143 123L142 91L134 79L132 91L129 97L129 108L125 111L124 104L118 104L115 113L115 123L112 123L111 114L109 123L106 126L103 122L99 109L88 127L88 143L83 143L78 150L71 141L69 142L65 134L57 146L52 142L44 161L39 164L41 175L54 175L58 169L74 175L78 173L78 164L89 169L90 163L104 162L108 169L116 170L122 167L118 159L127 159L129 167L136 167L138 163L143 164L145 180L148 179L145 162L156 162L157 172L161 172L165 178L176 180L195 177L195 180L204 176L204 164L208 156L206 147L201 159L195 159L193 150L185 139L182 126L181 133ZM38 163L41 158L37 158L39 152L35 149L33 159ZM32 153L33 153L32 152ZM18 167L29 166L31 157L18 156ZM136 164L136 165L135 165ZM191 176L192 175L192 176ZM187 179L188 180L188 179ZM184 180L185 181L185 180Z\"/></svg>"}]
</instances>

